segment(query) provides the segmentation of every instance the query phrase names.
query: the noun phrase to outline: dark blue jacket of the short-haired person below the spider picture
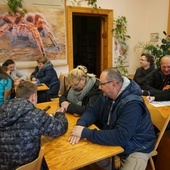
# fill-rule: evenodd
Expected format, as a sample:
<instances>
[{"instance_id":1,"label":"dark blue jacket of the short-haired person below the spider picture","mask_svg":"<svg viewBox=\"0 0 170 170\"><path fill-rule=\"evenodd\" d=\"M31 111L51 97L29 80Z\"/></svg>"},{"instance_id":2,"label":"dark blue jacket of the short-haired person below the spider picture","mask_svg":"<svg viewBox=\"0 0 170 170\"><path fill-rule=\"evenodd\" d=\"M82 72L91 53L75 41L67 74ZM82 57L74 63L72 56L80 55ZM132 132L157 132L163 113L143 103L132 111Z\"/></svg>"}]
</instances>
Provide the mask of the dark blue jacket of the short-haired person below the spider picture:
<instances>
[{"instance_id":1,"label":"dark blue jacket of the short-haired person below the spider picture","mask_svg":"<svg viewBox=\"0 0 170 170\"><path fill-rule=\"evenodd\" d=\"M49 87L47 93L50 98L58 96L60 81L50 61L47 61L41 70L38 68L38 66L36 66L35 71L30 77L31 80L32 78L36 78L37 81L40 83L45 83Z\"/></svg>"}]
</instances>

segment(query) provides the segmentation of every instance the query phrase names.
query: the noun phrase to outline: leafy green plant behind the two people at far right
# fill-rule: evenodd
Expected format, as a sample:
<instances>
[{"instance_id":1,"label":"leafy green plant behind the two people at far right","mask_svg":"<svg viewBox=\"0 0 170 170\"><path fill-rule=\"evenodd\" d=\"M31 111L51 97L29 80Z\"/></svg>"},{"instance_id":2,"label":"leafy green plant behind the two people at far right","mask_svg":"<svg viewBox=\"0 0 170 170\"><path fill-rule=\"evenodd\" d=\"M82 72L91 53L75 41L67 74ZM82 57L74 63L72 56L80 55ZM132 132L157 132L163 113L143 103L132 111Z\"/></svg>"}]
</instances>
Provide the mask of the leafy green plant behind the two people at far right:
<instances>
[{"instance_id":1,"label":"leafy green plant behind the two people at far right","mask_svg":"<svg viewBox=\"0 0 170 170\"><path fill-rule=\"evenodd\" d=\"M134 51L137 49L141 49L142 53L150 53L155 57L155 64L158 68L160 66L160 60L164 55L170 55L170 35L167 35L165 31L163 31L164 38L161 39L161 43L155 44L153 42L139 42L135 47ZM159 37L158 37L159 39Z\"/></svg>"}]
</instances>

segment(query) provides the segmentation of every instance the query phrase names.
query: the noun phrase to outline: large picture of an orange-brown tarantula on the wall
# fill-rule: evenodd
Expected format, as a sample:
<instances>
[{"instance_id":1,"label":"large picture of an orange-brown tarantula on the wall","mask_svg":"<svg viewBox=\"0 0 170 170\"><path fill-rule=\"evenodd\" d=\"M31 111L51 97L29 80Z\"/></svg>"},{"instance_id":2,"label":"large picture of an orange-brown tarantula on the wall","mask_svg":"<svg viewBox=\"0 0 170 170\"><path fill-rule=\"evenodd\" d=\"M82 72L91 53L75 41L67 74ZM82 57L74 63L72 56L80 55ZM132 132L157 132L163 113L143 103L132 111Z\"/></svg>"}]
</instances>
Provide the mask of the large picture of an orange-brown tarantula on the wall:
<instances>
[{"instance_id":1,"label":"large picture of an orange-brown tarantula on the wall","mask_svg":"<svg viewBox=\"0 0 170 170\"><path fill-rule=\"evenodd\" d=\"M34 0L24 4L25 16L9 15L7 5L0 5L0 63L12 59L26 68L45 56L54 65L67 64L64 3Z\"/></svg>"}]
</instances>

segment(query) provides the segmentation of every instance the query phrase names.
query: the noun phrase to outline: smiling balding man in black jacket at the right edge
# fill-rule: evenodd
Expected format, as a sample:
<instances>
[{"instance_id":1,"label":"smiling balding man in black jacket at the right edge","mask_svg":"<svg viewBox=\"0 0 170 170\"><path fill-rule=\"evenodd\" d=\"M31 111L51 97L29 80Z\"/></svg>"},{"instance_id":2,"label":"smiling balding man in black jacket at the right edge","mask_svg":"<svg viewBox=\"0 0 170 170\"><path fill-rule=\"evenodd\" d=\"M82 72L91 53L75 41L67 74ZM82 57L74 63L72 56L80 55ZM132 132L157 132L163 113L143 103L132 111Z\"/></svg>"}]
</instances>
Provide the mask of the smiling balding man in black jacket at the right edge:
<instances>
[{"instance_id":1,"label":"smiling balding man in black jacket at the right edge","mask_svg":"<svg viewBox=\"0 0 170 170\"><path fill-rule=\"evenodd\" d=\"M163 56L160 68L152 72L143 86L143 95L159 96L159 100L170 100L170 55Z\"/></svg>"}]
</instances>

